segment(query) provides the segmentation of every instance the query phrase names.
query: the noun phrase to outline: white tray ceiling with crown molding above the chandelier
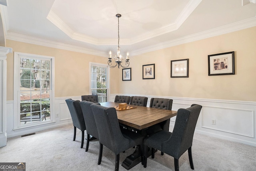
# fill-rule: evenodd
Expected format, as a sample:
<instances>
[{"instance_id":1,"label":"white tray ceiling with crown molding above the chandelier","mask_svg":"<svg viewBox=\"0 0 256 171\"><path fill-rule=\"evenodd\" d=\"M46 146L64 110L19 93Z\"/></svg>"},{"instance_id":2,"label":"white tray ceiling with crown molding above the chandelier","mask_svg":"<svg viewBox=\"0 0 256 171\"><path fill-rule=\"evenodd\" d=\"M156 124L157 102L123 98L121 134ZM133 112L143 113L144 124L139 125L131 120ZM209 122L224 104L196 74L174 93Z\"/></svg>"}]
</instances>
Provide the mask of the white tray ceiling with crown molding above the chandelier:
<instances>
[{"instance_id":1,"label":"white tray ceiling with crown molding above the chandelier","mask_svg":"<svg viewBox=\"0 0 256 171\"><path fill-rule=\"evenodd\" d=\"M118 44L116 14L121 53L130 55L256 26L256 0L6 2L0 5L6 39L104 57Z\"/></svg>"}]
</instances>

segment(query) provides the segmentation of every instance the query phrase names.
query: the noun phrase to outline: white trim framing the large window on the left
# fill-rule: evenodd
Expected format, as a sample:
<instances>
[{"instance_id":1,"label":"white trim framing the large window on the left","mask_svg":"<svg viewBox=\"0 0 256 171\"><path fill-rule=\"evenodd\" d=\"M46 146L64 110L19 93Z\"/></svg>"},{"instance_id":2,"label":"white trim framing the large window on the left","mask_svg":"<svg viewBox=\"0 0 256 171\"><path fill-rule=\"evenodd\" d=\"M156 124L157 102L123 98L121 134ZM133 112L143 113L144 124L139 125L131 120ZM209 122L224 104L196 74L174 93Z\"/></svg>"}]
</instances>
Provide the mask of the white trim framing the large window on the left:
<instances>
[{"instance_id":1,"label":"white trim framing the large window on the left","mask_svg":"<svg viewBox=\"0 0 256 171\"><path fill-rule=\"evenodd\" d=\"M20 87L20 83L19 83L19 78L20 78L20 60L17 60L19 59L19 55L22 55L22 56L26 56L28 58L34 58L34 57L37 57L37 58L41 58L41 59L51 59L51 85L52 85L52 90L51 90L51 93L50 93L50 106L51 106L51 119L48 120L48 121L45 121L43 124L42 123L32 123L32 124L28 124L28 125L20 125L19 124L19 117L18 117L18 114L20 114L20 111L19 111L19 105L18 105L18 101L19 101L19 98L18 97L18 91L19 91L19 87ZM21 53L21 52L14 52L14 81L13 81L13 99L14 99L14 102L13 102L13 110L14 110L14 129L13 130L23 130L23 128L36 128L36 127L39 127L39 126L42 126L42 125L45 125L45 124L49 124L49 123L53 123L55 122L55 111L54 111L54 87L55 87L55 83L54 83L54 75L55 75L55 72L54 72L54 69L55 69L55 59L54 57L51 57L51 56L44 56L44 55L36 55L36 54L30 54L30 53Z\"/></svg>"}]
</instances>

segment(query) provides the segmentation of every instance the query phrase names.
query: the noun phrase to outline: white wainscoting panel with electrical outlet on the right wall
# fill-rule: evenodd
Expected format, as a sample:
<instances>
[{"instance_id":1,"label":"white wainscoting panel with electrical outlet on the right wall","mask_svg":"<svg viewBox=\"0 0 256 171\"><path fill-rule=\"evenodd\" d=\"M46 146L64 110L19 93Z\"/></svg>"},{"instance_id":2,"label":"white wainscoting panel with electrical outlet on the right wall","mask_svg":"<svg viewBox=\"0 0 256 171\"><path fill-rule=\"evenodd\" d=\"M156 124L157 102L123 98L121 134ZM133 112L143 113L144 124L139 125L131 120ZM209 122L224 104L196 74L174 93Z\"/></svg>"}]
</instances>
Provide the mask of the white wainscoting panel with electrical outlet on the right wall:
<instances>
[{"instance_id":1,"label":"white wainscoting panel with electrical outlet on the right wall","mask_svg":"<svg viewBox=\"0 0 256 171\"><path fill-rule=\"evenodd\" d=\"M202 127L254 138L253 111L204 106Z\"/></svg>"}]
</instances>

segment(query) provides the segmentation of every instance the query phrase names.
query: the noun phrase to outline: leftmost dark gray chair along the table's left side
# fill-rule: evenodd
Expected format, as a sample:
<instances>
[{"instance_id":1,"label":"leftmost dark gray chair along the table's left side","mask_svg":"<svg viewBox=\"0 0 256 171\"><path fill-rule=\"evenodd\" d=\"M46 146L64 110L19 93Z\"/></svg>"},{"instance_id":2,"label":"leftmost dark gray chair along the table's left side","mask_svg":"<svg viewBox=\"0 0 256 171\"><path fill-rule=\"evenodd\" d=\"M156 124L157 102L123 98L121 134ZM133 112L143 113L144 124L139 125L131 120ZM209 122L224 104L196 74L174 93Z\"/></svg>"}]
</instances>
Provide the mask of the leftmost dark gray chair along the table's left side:
<instances>
[{"instance_id":1,"label":"leftmost dark gray chair along the table's left side","mask_svg":"<svg viewBox=\"0 0 256 171\"><path fill-rule=\"evenodd\" d=\"M81 140L81 148L82 148L84 146L84 130L86 130L86 126L84 123L84 116L80 106L80 100L66 99L66 103L68 105L68 109L70 111L70 115L74 125L73 141L76 140L76 128L78 128L82 131L82 140Z\"/></svg>"}]
</instances>

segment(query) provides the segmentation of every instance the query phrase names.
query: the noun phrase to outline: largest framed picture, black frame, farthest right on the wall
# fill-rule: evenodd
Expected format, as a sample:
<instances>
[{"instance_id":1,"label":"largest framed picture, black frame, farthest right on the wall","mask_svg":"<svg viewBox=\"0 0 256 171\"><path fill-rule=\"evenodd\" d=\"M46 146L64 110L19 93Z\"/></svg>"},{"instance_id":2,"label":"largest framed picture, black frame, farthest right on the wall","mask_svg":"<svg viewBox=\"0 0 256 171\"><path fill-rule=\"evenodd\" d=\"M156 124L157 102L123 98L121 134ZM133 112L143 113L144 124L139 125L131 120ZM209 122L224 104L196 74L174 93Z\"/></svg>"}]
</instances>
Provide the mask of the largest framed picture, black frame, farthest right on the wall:
<instances>
[{"instance_id":1,"label":"largest framed picture, black frame, farthest right on the wall","mask_svg":"<svg viewBox=\"0 0 256 171\"><path fill-rule=\"evenodd\" d=\"M235 55L234 51L208 55L208 76L234 75Z\"/></svg>"}]
</instances>

